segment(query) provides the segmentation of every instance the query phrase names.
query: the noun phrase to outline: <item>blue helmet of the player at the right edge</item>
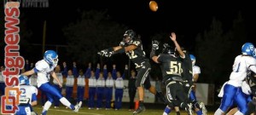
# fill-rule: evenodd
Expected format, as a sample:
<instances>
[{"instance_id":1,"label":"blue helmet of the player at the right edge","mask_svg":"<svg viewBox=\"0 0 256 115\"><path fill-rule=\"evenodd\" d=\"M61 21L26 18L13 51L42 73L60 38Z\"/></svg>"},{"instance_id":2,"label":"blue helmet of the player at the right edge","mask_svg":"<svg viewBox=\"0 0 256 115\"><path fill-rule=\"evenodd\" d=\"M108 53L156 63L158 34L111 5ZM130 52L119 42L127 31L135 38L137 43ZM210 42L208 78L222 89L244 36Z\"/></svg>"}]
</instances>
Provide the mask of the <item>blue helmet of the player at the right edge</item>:
<instances>
[{"instance_id":1,"label":"blue helmet of the player at the right edge","mask_svg":"<svg viewBox=\"0 0 256 115\"><path fill-rule=\"evenodd\" d=\"M242 55L251 55L251 56L255 55L253 43L244 43L241 46L241 54Z\"/></svg>"}]
</instances>

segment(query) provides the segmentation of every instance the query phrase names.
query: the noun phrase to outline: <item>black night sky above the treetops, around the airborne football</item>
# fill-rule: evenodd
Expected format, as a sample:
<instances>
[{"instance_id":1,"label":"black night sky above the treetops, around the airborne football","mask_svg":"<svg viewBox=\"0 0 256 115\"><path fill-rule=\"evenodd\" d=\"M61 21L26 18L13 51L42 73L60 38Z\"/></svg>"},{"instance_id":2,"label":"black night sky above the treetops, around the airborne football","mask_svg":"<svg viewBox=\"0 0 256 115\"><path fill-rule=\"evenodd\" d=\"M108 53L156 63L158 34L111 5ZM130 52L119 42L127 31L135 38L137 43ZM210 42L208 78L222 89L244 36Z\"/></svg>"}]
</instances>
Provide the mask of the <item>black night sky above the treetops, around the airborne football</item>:
<instances>
[{"instance_id":1,"label":"black night sky above the treetops, around the airborne football","mask_svg":"<svg viewBox=\"0 0 256 115\"><path fill-rule=\"evenodd\" d=\"M157 0L159 10L148 8L149 0L93 0L61 1L49 0L49 8L22 8L27 26L33 32L31 43L42 43L43 24L47 21L47 44L67 44L62 28L79 19L81 11L96 9L108 10L112 20L125 24L141 34L143 41L156 32L177 32L183 43L195 43L195 36L210 28L212 17L223 22L224 30L231 28L238 11L246 22L247 39L254 42L256 31L256 7L252 3L208 3L177 2ZM79 12L80 11L80 12ZM145 40L146 39L146 40ZM149 39L149 38L148 38ZM120 37L121 40L121 37Z\"/></svg>"}]
</instances>

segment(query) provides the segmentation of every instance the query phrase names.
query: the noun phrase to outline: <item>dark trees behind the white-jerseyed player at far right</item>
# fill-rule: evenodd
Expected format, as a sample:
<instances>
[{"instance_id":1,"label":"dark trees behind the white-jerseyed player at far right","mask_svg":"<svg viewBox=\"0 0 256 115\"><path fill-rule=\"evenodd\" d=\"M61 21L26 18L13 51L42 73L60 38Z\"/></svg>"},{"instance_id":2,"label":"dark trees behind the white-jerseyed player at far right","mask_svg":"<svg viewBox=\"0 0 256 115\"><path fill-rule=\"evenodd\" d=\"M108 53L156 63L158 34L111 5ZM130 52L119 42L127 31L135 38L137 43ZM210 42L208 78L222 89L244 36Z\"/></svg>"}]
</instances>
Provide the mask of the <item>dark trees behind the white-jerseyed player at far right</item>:
<instances>
[{"instance_id":1,"label":"dark trees behind the white-jerseyed player at far right","mask_svg":"<svg viewBox=\"0 0 256 115\"><path fill-rule=\"evenodd\" d=\"M235 57L241 54L241 45L247 39L241 12L230 28L224 32L222 23L213 18L211 30L196 37L195 53L197 64L201 66L202 81L224 83L229 79Z\"/></svg>"}]
</instances>

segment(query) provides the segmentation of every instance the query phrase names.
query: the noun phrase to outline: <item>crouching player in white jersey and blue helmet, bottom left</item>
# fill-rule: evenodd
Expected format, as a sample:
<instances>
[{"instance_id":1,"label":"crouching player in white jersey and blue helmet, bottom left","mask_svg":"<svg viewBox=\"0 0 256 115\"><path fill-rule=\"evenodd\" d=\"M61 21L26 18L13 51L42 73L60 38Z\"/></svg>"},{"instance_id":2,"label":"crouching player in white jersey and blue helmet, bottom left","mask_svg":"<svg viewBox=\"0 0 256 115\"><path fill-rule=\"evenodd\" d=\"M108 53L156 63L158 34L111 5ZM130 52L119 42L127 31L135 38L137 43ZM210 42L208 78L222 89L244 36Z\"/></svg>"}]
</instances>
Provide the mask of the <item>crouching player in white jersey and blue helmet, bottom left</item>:
<instances>
[{"instance_id":1,"label":"crouching player in white jersey and blue helmet, bottom left","mask_svg":"<svg viewBox=\"0 0 256 115\"><path fill-rule=\"evenodd\" d=\"M29 79L26 76L19 77L20 83L20 104L19 111L16 115L36 115L32 110L32 106L38 104L38 89L32 85L29 85Z\"/></svg>"}]
</instances>

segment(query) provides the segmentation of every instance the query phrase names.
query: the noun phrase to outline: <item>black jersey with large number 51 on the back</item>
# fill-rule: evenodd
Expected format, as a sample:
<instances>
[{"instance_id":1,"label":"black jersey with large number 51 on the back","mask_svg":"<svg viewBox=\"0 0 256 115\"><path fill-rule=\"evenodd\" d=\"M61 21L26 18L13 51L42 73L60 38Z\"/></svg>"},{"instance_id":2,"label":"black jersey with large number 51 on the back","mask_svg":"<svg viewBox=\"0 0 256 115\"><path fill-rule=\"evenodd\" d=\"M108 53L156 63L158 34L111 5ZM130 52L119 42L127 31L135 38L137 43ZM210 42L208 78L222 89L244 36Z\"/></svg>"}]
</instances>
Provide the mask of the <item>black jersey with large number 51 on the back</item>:
<instances>
[{"instance_id":1,"label":"black jersey with large number 51 on the back","mask_svg":"<svg viewBox=\"0 0 256 115\"><path fill-rule=\"evenodd\" d=\"M182 78L182 61L180 58L175 57L174 55L160 54L158 61L161 63L161 71L163 79L178 77Z\"/></svg>"}]
</instances>

